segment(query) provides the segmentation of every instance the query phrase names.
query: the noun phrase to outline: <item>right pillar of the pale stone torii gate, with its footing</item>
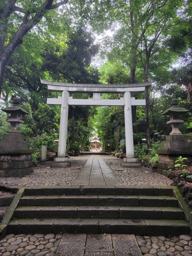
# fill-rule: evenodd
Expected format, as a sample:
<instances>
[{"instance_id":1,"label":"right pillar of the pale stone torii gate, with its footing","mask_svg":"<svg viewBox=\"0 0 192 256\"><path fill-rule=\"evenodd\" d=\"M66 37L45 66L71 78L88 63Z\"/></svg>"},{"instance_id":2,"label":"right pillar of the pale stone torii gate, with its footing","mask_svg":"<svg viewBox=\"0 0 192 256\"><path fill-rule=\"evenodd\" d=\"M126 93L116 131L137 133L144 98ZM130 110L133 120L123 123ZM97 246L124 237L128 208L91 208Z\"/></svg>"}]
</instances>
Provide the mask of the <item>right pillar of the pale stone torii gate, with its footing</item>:
<instances>
[{"instance_id":1,"label":"right pillar of the pale stone torii gate, with its footing","mask_svg":"<svg viewBox=\"0 0 192 256\"><path fill-rule=\"evenodd\" d=\"M140 167L141 164L138 163L138 159L134 158L131 92L124 93L124 118L125 118L126 157L124 157L124 162L121 163L121 166Z\"/></svg>"}]
</instances>

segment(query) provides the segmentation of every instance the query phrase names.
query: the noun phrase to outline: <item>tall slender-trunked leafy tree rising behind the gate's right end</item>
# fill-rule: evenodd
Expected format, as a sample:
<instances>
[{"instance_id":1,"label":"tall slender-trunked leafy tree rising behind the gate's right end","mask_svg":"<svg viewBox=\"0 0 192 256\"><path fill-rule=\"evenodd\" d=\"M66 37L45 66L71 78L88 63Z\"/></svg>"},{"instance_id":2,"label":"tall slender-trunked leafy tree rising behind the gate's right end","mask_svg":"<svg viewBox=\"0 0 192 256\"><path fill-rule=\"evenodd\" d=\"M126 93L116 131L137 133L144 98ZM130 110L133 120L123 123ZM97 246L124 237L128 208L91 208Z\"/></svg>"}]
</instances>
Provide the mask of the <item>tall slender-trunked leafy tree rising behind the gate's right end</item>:
<instances>
[{"instance_id":1,"label":"tall slender-trunked leafy tree rising behind the gate's right end","mask_svg":"<svg viewBox=\"0 0 192 256\"><path fill-rule=\"evenodd\" d=\"M99 18L101 18L100 13L103 12L105 13L105 19L107 17L107 24L116 24L117 28L114 29L115 46L119 46L119 52L122 49L127 52L126 57L128 60L125 60L126 57L124 57L122 61L130 67L130 82L134 82L136 79L135 72L139 61L143 64L142 80L143 82L148 81L149 60L154 54L158 54L163 42L168 37L167 34L172 32L172 28L182 22L181 16L183 13L181 7L187 4L182 0L142 0L139 2L111 0L107 1L106 4L101 4L98 10ZM97 4L94 6L98 8ZM95 12L97 12L96 8L94 8ZM108 15L106 15L106 12L108 12ZM94 21L92 22L94 23ZM114 24L112 28L115 27ZM113 47L112 44L110 44L111 47ZM146 139L148 147L150 147L148 87L145 90L145 98Z\"/></svg>"}]
</instances>

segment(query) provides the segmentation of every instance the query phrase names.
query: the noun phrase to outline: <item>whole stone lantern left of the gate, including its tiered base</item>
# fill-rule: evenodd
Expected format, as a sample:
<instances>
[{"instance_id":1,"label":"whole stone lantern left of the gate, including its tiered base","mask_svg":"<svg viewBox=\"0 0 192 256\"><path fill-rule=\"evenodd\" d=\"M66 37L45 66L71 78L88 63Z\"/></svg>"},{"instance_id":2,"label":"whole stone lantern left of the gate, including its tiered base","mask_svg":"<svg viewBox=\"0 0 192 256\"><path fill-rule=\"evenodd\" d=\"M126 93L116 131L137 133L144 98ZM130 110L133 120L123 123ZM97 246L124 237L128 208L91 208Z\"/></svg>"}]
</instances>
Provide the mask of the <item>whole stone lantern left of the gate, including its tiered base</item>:
<instances>
[{"instance_id":1,"label":"whole stone lantern left of the gate, including its tiered base","mask_svg":"<svg viewBox=\"0 0 192 256\"><path fill-rule=\"evenodd\" d=\"M14 98L11 107L2 109L10 114L6 121L11 124L11 131L0 141L0 177L24 177L33 172L31 153L34 150L28 148L24 135L18 131L19 124L23 123L20 116L29 113L19 103L20 99Z\"/></svg>"}]
</instances>

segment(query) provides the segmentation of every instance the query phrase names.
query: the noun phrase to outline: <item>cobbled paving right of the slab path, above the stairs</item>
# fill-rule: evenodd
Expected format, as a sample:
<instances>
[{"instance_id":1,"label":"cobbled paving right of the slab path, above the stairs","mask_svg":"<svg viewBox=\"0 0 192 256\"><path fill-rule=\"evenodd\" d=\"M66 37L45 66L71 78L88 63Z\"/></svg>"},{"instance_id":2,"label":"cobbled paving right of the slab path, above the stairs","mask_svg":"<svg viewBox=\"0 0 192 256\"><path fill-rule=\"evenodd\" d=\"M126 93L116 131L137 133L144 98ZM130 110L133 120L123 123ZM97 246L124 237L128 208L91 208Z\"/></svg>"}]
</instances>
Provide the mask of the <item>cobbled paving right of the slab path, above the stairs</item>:
<instances>
[{"instance_id":1,"label":"cobbled paving right of the slab path, above the stairs","mask_svg":"<svg viewBox=\"0 0 192 256\"><path fill-rule=\"evenodd\" d=\"M114 172L122 185L154 185L167 186L172 180L156 172L152 172L147 167L125 168L121 167L123 159L114 156L102 156L105 163Z\"/></svg>"}]
</instances>

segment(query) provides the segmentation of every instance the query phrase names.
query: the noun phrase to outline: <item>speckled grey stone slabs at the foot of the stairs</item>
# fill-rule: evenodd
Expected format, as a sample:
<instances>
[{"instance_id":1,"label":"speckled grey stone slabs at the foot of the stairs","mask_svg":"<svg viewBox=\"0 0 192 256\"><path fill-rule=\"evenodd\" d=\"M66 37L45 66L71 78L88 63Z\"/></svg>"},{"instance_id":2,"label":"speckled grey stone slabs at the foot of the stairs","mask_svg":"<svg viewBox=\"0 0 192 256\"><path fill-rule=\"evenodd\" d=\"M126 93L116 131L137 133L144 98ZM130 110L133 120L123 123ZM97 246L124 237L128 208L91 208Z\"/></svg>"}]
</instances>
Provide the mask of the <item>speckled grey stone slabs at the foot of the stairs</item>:
<instances>
[{"instance_id":1,"label":"speckled grey stone slabs at the foot of the stairs","mask_svg":"<svg viewBox=\"0 0 192 256\"><path fill-rule=\"evenodd\" d=\"M134 235L64 234L55 256L142 256Z\"/></svg>"}]
</instances>

